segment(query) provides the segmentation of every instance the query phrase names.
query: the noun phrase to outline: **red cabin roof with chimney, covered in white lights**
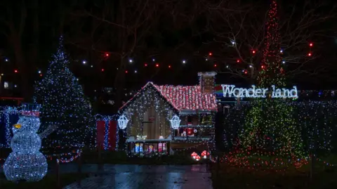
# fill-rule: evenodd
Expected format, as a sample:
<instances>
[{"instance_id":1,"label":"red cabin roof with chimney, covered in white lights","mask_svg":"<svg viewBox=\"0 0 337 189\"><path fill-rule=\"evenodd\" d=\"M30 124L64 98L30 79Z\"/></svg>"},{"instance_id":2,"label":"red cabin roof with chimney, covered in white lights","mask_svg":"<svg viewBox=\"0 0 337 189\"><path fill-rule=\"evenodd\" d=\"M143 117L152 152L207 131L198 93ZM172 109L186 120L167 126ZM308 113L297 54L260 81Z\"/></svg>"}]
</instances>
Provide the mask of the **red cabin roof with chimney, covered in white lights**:
<instances>
[{"instance_id":1,"label":"red cabin roof with chimney, covered in white lights","mask_svg":"<svg viewBox=\"0 0 337 189\"><path fill-rule=\"evenodd\" d=\"M148 82L145 86L128 100L119 109L124 112L134 100L140 98L148 90L154 90L157 95L166 101L174 112L193 113L193 112L216 112L216 95L214 94L214 79L216 72L199 72L199 85L195 86L171 86L156 85Z\"/></svg>"}]
</instances>

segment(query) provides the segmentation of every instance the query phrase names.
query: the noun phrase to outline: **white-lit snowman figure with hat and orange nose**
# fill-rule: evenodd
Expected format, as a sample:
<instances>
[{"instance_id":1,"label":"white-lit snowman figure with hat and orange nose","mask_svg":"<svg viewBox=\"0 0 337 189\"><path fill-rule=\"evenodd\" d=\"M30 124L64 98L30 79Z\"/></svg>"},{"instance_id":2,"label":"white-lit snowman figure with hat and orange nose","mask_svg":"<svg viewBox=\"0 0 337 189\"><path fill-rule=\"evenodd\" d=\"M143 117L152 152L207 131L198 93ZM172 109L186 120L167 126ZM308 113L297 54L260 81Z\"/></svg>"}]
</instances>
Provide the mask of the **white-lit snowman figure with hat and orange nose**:
<instances>
[{"instance_id":1,"label":"white-lit snowman figure with hat and orange nose","mask_svg":"<svg viewBox=\"0 0 337 189\"><path fill-rule=\"evenodd\" d=\"M39 105L23 105L18 124L13 126L14 136L11 141L13 152L4 164L4 173L8 181L40 181L46 176L47 161L39 152L41 138L37 134L40 126L39 107Z\"/></svg>"}]
</instances>

